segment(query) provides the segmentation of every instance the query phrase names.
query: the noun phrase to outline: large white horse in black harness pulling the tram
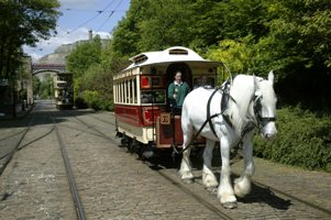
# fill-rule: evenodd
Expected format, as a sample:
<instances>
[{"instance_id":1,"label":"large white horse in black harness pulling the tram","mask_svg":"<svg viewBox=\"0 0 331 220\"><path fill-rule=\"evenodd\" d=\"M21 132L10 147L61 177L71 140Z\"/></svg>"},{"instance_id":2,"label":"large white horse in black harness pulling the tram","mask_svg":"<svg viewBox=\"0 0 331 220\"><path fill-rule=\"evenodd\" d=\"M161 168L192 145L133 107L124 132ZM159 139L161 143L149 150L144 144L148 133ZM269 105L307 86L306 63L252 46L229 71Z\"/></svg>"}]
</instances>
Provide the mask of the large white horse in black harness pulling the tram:
<instances>
[{"instance_id":1,"label":"large white horse in black harness pulling the tram","mask_svg":"<svg viewBox=\"0 0 331 220\"><path fill-rule=\"evenodd\" d=\"M239 75L234 78L230 88L229 119L230 124L220 114L211 120L211 125L206 124L200 135L206 138L203 152L202 183L207 188L218 186L214 174L211 170L212 150L217 141L220 142L222 169L218 198L224 208L235 208L236 198L244 197L251 190L251 177L254 174L252 157L252 138L254 125L257 127L265 139L273 139L276 133L276 96L274 92L274 74L268 74L268 80L255 76ZM186 97L181 113L181 128L184 134L183 148L188 147L192 135L207 119L207 102L213 90L198 88ZM217 92L210 102L210 116L220 113L222 94ZM253 128L252 128L253 124ZM247 129L251 125L251 129ZM244 170L240 178L234 180L234 189L230 179L230 150L243 142ZM191 164L189 161L190 148L183 153L179 174L184 182L191 182ZM234 196L235 195L235 196Z\"/></svg>"}]
</instances>

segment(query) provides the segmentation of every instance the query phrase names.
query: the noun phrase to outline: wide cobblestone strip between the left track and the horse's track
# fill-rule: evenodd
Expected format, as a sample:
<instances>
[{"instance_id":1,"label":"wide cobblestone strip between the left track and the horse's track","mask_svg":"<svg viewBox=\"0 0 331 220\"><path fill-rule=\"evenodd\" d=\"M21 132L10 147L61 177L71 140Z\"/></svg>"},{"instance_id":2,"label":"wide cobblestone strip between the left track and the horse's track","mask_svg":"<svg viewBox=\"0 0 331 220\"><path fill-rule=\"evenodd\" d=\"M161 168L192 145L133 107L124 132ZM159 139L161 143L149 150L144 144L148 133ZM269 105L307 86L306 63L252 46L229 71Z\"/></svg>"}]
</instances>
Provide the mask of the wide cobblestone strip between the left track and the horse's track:
<instances>
[{"instance_id":1,"label":"wide cobblestone strip between the left track and the horse's track","mask_svg":"<svg viewBox=\"0 0 331 220\"><path fill-rule=\"evenodd\" d=\"M220 219L109 140L69 129L75 124L64 122L62 134L88 219Z\"/></svg>"}]
</instances>

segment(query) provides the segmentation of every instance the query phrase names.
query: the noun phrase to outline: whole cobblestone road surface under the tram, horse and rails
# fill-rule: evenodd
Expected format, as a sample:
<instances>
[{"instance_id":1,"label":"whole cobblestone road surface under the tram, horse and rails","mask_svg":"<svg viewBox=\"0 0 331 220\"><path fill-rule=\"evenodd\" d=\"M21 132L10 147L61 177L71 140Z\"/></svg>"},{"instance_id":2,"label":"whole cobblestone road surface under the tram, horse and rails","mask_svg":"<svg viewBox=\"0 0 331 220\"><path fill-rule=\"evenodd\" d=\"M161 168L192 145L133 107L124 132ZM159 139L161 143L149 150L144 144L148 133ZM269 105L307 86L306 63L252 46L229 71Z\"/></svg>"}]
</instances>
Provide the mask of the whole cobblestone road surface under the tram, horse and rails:
<instances>
[{"instance_id":1,"label":"whole cobblestone road surface under the tram, horse and rails","mask_svg":"<svg viewBox=\"0 0 331 220\"><path fill-rule=\"evenodd\" d=\"M161 163L167 168L158 172L175 179L173 182L128 154L125 148L118 147L111 113L57 111L54 105L38 103L31 117L33 114L32 128L20 145L22 150L16 152L0 177L1 219L76 218L52 117L56 119L66 144L87 219L221 218L217 211L208 209L178 186L196 193L233 219L330 219L321 211L257 185L254 185L251 195L240 200L238 209L224 210L216 195L201 186L199 164L195 170L196 183L184 185L177 175L177 167L169 165L169 162ZM29 118L20 123L1 124L0 153L15 144L27 121ZM329 174L291 169L261 160L257 162L256 180L330 209ZM241 162L233 165L235 170L240 166ZM219 173L219 166L214 170ZM296 178L291 178L294 170ZM322 180L317 182L316 178ZM316 183L317 187L311 183Z\"/></svg>"}]
</instances>

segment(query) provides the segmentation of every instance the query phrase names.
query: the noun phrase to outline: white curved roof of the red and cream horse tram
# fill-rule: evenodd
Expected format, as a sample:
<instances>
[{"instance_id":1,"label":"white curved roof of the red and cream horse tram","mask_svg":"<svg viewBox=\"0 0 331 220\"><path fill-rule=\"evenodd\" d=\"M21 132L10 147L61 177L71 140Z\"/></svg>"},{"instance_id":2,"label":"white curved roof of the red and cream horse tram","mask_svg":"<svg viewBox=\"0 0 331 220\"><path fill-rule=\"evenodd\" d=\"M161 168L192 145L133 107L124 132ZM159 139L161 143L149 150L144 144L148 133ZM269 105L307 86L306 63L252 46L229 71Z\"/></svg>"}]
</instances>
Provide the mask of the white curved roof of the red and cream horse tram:
<instances>
[{"instance_id":1,"label":"white curved roof of the red and cream horse tram","mask_svg":"<svg viewBox=\"0 0 331 220\"><path fill-rule=\"evenodd\" d=\"M159 52L141 53L131 57L130 61L132 62L132 64L124 70L140 66L176 62L202 62L211 63L216 66L220 65L219 62L211 62L209 59L205 59L192 50L184 46L173 46Z\"/></svg>"}]
</instances>

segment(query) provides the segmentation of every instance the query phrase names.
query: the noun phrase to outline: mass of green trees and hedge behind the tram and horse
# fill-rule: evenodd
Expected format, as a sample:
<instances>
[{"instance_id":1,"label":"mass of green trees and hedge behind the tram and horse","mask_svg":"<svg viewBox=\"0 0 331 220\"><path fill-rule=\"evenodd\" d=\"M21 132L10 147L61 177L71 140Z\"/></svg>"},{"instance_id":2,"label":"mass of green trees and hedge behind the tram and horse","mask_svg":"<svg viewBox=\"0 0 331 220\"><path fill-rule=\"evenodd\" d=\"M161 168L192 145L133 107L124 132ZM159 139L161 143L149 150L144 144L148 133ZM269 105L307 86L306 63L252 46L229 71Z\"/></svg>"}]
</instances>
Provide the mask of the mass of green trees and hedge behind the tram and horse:
<instances>
[{"instance_id":1,"label":"mass of green trees and hedge behind the tram and horse","mask_svg":"<svg viewBox=\"0 0 331 220\"><path fill-rule=\"evenodd\" d=\"M69 55L68 67L75 73L78 102L111 109L112 75L128 66L129 57L189 46L225 63L233 75L266 76L274 69L283 102L329 112L330 26L329 0L132 0L110 43L104 48L97 40L80 45ZM257 138L256 155L331 169L330 117L286 108L277 123L278 139Z\"/></svg>"}]
</instances>

